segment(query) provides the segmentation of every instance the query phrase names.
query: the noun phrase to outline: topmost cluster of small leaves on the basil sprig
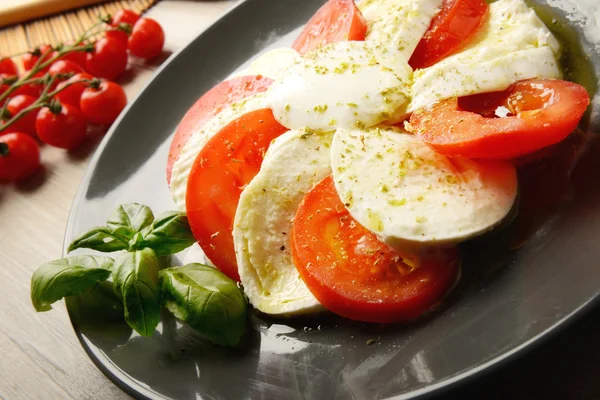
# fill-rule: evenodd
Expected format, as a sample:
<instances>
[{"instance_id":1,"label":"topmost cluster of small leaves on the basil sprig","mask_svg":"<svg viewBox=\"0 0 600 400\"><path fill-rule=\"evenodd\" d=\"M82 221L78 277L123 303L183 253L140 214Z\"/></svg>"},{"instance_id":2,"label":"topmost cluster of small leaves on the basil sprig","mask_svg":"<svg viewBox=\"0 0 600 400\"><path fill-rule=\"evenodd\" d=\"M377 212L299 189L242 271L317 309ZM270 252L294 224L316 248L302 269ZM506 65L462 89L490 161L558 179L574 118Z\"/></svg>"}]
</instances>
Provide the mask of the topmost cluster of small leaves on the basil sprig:
<instances>
[{"instance_id":1,"label":"topmost cluster of small leaves on the basil sprig","mask_svg":"<svg viewBox=\"0 0 600 400\"><path fill-rule=\"evenodd\" d=\"M195 242L187 215L168 212L155 220L149 207L123 204L110 215L106 226L95 227L77 237L68 248L102 252L151 248L159 256L178 253Z\"/></svg>"}]
</instances>

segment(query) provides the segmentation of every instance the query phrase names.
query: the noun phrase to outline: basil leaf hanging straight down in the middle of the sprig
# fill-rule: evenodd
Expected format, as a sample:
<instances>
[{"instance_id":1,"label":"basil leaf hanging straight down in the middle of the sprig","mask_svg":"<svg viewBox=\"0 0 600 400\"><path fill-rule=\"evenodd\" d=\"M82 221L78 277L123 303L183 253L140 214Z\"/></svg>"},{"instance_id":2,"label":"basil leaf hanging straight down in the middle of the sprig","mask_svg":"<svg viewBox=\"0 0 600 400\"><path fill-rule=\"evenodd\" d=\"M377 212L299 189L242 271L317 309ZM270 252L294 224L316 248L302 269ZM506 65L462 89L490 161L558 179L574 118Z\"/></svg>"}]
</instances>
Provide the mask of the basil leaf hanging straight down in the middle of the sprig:
<instances>
[{"instance_id":1,"label":"basil leaf hanging straight down in the middle of the sprig","mask_svg":"<svg viewBox=\"0 0 600 400\"><path fill-rule=\"evenodd\" d=\"M152 336L160 320L158 258L152 249L119 254L113 267L115 293L125 321L142 336Z\"/></svg>"}]
</instances>

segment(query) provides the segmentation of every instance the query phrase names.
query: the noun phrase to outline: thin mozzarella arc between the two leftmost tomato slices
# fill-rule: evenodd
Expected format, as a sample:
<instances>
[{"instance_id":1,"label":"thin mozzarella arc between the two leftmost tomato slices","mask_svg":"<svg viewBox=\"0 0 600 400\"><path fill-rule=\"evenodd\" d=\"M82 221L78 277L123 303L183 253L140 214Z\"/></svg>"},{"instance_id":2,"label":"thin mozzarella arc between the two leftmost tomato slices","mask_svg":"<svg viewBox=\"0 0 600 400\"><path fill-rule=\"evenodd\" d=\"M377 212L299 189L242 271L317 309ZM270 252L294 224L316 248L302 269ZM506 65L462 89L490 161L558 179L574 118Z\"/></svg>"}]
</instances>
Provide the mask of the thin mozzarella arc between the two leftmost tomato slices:
<instances>
[{"instance_id":1,"label":"thin mozzarella arc between the two leftmost tomato slices","mask_svg":"<svg viewBox=\"0 0 600 400\"><path fill-rule=\"evenodd\" d=\"M259 93L232 104L214 116L190 137L173 165L171 173L171 197L180 210L185 210L188 177L200 150L211 137L233 120L250 111L266 108L263 96L262 93Z\"/></svg>"}]
</instances>

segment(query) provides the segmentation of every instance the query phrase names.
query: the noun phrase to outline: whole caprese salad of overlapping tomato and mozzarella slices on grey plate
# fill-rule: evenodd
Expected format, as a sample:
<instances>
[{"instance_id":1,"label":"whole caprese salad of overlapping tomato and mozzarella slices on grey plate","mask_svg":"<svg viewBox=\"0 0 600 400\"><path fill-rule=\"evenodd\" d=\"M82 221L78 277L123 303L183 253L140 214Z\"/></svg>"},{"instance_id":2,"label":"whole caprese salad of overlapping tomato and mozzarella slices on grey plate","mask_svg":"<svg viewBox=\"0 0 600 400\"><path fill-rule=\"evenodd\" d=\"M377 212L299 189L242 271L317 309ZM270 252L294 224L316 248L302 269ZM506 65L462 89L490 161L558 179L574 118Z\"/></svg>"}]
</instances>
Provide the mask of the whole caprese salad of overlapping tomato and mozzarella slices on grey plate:
<instances>
[{"instance_id":1,"label":"whole caprese salad of overlapping tomato and mozzarella slices on grey plate","mask_svg":"<svg viewBox=\"0 0 600 400\"><path fill-rule=\"evenodd\" d=\"M459 276L457 244L513 208L513 160L588 107L560 53L523 0L329 0L181 121L167 179L188 259L273 316L426 313Z\"/></svg>"}]
</instances>

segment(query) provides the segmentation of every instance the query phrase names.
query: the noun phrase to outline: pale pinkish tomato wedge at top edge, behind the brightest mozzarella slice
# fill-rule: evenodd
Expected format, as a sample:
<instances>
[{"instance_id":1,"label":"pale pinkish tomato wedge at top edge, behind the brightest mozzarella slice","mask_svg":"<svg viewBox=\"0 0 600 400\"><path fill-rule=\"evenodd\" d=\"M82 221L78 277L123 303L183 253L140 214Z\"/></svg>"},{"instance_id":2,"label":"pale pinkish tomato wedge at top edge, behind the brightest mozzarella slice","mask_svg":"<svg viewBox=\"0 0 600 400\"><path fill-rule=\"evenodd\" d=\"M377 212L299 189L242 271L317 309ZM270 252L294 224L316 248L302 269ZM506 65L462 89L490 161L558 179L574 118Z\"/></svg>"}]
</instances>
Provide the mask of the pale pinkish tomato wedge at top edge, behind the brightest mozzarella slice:
<instances>
[{"instance_id":1,"label":"pale pinkish tomato wedge at top edge, behind the brightest mozzarella slice","mask_svg":"<svg viewBox=\"0 0 600 400\"><path fill-rule=\"evenodd\" d=\"M300 54L327 43L365 40L367 22L354 0L329 0L308 21L292 47Z\"/></svg>"}]
</instances>

